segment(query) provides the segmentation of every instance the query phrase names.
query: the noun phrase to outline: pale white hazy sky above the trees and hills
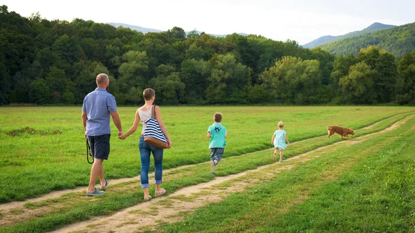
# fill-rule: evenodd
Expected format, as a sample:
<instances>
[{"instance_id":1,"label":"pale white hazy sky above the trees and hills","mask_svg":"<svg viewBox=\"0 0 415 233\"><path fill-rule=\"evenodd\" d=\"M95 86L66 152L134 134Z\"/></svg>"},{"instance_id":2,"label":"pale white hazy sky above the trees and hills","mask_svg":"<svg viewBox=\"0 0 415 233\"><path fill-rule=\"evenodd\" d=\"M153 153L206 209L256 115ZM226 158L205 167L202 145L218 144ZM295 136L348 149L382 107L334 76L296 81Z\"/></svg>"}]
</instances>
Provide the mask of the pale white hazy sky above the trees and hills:
<instances>
[{"instance_id":1,"label":"pale white hazy sky above the trees and hills","mask_svg":"<svg viewBox=\"0 0 415 233\"><path fill-rule=\"evenodd\" d=\"M3 0L0 4L24 17L39 12L48 20L80 18L158 30L178 26L211 34L243 32L299 44L362 30L374 22L400 26L415 21L413 0Z\"/></svg>"}]
</instances>

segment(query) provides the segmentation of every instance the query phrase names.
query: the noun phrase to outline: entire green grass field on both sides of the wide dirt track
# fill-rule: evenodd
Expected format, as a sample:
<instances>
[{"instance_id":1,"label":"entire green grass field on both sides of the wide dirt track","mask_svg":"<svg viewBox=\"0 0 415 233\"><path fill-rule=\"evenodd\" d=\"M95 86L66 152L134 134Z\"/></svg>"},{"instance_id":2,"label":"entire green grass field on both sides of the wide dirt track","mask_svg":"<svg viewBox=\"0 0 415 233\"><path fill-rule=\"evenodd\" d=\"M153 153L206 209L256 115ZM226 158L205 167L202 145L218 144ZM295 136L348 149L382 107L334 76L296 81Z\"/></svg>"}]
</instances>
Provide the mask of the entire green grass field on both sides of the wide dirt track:
<instances>
[{"instance_id":1,"label":"entire green grass field on both sides of the wide dirt track","mask_svg":"<svg viewBox=\"0 0 415 233\"><path fill-rule=\"evenodd\" d=\"M380 106L227 106L161 109L173 141L172 149L165 151L163 168L194 164L192 167L165 172L163 187L168 190L167 194L214 179L209 174L208 165L197 164L209 159L208 138L205 135L212 124L215 111L223 113L223 125L228 129L225 157L231 157L221 162L217 176L238 174L247 169L273 163L270 154L272 152L260 150L271 147L270 138L279 120L285 122L288 138L295 142L284 153L284 158L289 158L340 141L337 136L331 140L327 139L325 128L328 125L338 124L358 129L355 137L359 137L385 129L407 115L413 115L415 111L409 107ZM124 131L131 126L135 111L136 109L131 107L119 109ZM90 165L85 158L80 108L1 108L0 114L4 115L0 122L1 202L24 200L42 196L52 190L87 185ZM363 129L375 122L379 123ZM335 150L326 151L324 157L320 156L298 165L295 169L284 171L282 176L267 180L265 185L232 194L220 203L209 205L191 214L183 222L165 225L163 230L267 232L271 227L275 232L306 232L314 227L315 230L309 232L333 232L345 227L342 232L369 232L372 229L376 232L385 226L380 220L376 225L369 224L367 228L356 228L357 223L353 224L356 222L353 218L336 221L339 221L341 216L349 216L352 213L354 218L361 221L358 224L366 223L367 221L362 219L366 219L364 217L368 214L369 207L378 202L382 203L382 200L378 201L380 197L386 200L384 202L391 203L388 207L389 210L392 209L391 216L380 211L376 212L377 217L374 214L369 220L391 218L393 223L391 231L380 232L411 230L410 226L413 226L414 222L409 220L409 216L414 215L415 211L414 203L410 201L413 196L410 196L409 192L412 191L412 195L414 194L414 185L410 183L414 180L398 175L402 174L402 169L412 176L415 173L414 158L410 153L410 149L413 149L410 142L414 140L413 123L414 118L408 120L403 130L369 138L356 145L333 146ZM35 131L26 129L25 132L20 132L19 130L24 127ZM112 129L115 136L116 127L113 126ZM104 163L107 178L132 177L139 174L138 138L139 132L124 141L116 137L111 139L110 159ZM394 160L400 162L396 164L392 162ZM390 165L388 161L391 161ZM404 168L408 162L412 162L412 167ZM362 171L367 169L365 166L371 167L373 170L369 171L373 172L362 174ZM355 180L356 177L358 180ZM374 183L373 180L379 182ZM385 182L389 183L390 187L385 187ZM386 195L394 187L398 187L400 191L395 196ZM360 190L364 188L367 189L365 192ZM301 196L300 194L304 194L304 190L307 195L297 203L295 200ZM359 202L359 197L363 194L370 196L370 205ZM398 203L399 200L401 203ZM112 214L139 203L142 203L142 191L137 182L113 185L113 189L100 198L88 198L84 193L74 192L47 201L29 202L24 207L8 212L0 210L0 232L48 232L69 223L89 219L91 216ZM357 210L344 208L344 205L356 203L359 204ZM376 208L380 207L381 205ZM400 207L405 211L400 211ZM253 215L250 215L252 213ZM273 213L272 216L270 213ZM219 216L210 219L209 216L212 214ZM324 214L333 218L324 217ZM303 221L297 219L299 216L302 216ZM218 219L221 219L220 223L217 222ZM255 228L251 229L252 226ZM326 226L326 230L322 226Z\"/></svg>"}]
</instances>

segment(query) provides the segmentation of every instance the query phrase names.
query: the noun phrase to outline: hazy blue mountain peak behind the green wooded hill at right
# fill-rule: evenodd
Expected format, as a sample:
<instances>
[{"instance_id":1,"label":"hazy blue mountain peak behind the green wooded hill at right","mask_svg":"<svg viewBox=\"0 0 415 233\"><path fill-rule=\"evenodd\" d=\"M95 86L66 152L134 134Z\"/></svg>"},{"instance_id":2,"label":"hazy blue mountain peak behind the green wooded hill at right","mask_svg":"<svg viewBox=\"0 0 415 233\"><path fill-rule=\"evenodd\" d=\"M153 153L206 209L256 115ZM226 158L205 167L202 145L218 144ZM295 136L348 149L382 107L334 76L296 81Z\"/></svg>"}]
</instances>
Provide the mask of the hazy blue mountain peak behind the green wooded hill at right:
<instances>
[{"instance_id":1,"label":"hazy blue mountain peak behind the green wooded hill at right","mask_svg":"<svg viewBox=\"0 0 415 233\"><path fill-rule=\"evenodd\" d=\"M347 34L338 35L338 36L326 35L324 37L319 37L319 38L317 38L317 39L315 39L315 40L313 40L313 41L311 41L307 44L304 44L303 47L304 48L314 48L314 47L320 46L320 44L324 44L324 43L327 43L327 42L338 41L340 39L346 39L346 38L349 38L349 37L358 37L360 35L365 35L367 33L376 32L378 30L383 30L383 29L386 29L386 28L394 28L394 27L396 27L396 26L387 25L387 24L380 24L380 23L376 22L374 24L371 24L371 26L369 26L369 27L367 27L363 30L357 30L357 31L354 31L354 32L349 32Z\"/></svg>"}]
</instances>

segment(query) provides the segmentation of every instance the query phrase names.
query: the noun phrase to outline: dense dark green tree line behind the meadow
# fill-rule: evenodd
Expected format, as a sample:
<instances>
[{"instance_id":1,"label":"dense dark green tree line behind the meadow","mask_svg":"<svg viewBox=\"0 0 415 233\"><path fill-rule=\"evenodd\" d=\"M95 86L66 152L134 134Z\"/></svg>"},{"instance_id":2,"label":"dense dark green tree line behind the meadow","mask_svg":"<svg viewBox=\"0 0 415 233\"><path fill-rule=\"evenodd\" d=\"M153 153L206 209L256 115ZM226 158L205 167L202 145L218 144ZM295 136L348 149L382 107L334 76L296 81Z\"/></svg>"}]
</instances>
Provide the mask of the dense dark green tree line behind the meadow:
<instances>
[{"instance_id":1,"label":"dense dark green tree line behind the meadow","mask_svg":"<svg viewBox=\"0 0 415 233\"><path fill-rule=\"evenodd\" d=\"M415 50L369 46L335 57L296 41L174 27L145 35L83 19L21 17L0 6L0 104L82 104L98 73L118 104L414 104Z\"/></svg>"}]
</instances>

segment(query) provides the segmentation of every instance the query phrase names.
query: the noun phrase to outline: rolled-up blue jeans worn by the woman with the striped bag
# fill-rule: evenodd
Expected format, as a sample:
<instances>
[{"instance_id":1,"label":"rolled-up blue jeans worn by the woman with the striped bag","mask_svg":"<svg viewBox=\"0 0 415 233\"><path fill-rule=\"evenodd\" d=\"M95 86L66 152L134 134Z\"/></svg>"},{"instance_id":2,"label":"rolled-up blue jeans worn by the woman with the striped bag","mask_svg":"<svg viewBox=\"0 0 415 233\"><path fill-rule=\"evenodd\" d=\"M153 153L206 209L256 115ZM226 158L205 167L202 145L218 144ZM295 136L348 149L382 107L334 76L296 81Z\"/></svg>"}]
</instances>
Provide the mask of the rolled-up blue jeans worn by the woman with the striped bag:
<instances>
[{"instance_id":1,"label":"rolled-up blue jeans worn by the woman with the striped bag","mask_svg":"<svg viewBox=\"0 0 415 233\"><path fill-rule=\"evenodd\" d=\"M143 189L149 187L149 169L150 169L150 153L153 153L154 157L154 173L156 185L161 184L161 177L163 176L163 149L149 145L144 142L144 138L140 138L138 143L138 149L140 149L141 158L141 187Z\"/></svg>"}]
</instances>

